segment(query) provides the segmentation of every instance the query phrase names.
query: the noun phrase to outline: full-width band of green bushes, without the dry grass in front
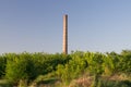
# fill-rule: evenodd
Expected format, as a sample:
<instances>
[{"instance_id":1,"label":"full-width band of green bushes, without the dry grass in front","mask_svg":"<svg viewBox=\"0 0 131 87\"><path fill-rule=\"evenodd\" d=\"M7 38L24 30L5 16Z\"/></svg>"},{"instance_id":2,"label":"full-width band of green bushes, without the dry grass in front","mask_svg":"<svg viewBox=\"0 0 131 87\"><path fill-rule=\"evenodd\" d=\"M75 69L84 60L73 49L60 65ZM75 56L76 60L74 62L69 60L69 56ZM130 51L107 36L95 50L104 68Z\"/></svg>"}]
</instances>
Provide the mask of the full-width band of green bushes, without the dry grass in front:
<instances>
[{"instance_id":1,"label":"full-width band of green bushes, without the dry grass in front","mask_svg":"<svg viewBox=\"0 0 131 87\"><path fill-rule=\"evenodd\" d=\"M53 74L59 80L70 84L72 79L88 73L97 77L102 75L131 74L131 51L121 53L99 53L75 51L71 54L37 53L4 53L0 55L0 78L8 79L13 85L21 80L32 83L39 75Z\"/></svg>"}]
</instances>

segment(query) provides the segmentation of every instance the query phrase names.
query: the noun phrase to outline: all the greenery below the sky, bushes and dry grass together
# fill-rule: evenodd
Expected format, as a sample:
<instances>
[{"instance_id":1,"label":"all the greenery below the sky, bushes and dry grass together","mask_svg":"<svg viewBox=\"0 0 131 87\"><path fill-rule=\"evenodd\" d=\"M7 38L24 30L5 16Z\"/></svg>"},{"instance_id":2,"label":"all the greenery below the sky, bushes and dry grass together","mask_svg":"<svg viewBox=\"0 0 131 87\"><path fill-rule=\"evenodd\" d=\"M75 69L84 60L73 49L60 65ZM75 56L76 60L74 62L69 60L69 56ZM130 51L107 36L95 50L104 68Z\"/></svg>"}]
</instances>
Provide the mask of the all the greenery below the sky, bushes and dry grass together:
<instances>
[{"instance_id":1,"label":"all the greenery below the sky, bushes and dry grass together","mask_svg":"<svg viewBox=\"0 0 131 87\"><path fill-rule=\"evenodd\" d=\"M119 54L4 53L0 55L0 78L2 87L131 87L131 50Z\"/></svg>"}]
</instances>

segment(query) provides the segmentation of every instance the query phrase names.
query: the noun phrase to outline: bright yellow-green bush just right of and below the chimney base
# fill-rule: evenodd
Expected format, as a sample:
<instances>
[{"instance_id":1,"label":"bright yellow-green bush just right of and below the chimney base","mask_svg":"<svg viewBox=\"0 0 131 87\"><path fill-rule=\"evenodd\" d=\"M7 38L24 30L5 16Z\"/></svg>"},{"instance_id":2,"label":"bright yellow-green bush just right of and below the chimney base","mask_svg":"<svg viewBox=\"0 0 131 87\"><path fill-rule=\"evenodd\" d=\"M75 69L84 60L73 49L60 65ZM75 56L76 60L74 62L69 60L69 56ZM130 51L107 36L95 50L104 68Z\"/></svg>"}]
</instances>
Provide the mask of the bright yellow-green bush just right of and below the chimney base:
<instances>
[{"instance_id":1,"label":"bright yellow-green bush just right of and below the chimney base","mask_svg":"<svg viewBox=\"0 0 131 87\"><path fill-rule=\"evenodd\" d=\"M66 84L69 84L70 80L79 77L79 75L86 69L87 62L82 55L83 53L78 51L71 54L72 59L66 65L58 65L57 74L62 82L66 82Z\"/></svg>"}]
</instances>

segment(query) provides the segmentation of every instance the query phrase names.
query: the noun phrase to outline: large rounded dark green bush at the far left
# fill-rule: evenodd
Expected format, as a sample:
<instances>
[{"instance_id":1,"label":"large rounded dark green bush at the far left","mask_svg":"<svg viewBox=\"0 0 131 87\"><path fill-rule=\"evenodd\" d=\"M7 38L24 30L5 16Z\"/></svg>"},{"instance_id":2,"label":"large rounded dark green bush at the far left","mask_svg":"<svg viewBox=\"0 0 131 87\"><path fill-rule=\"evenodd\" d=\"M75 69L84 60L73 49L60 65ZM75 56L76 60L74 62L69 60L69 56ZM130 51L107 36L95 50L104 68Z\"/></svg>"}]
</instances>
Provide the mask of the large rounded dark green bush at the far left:
<instances>
[{"instance_id":1,"label":"large rounded dark green bush at the far left","mask_svg":"<svg viewBox=\"0 0 131 87\"><path fill-rule=\"evenodd\" d=\"M29 53L8 54L5 77L12 83L35 77L34 64Z\"/></svg>"}]
</instances>

